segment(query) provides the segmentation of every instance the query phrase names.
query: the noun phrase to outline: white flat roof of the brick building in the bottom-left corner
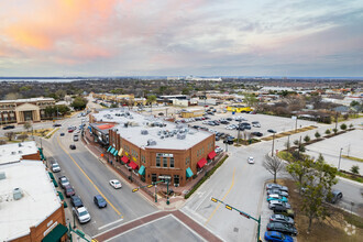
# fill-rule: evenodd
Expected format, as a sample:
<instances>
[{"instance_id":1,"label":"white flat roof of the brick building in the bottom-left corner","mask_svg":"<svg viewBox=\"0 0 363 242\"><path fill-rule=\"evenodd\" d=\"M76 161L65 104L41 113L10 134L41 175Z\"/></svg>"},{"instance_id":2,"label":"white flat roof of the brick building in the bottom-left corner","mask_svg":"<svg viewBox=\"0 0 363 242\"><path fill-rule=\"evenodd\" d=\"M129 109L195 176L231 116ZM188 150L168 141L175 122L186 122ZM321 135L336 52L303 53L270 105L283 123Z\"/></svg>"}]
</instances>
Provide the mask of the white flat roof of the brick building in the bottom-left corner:
<instances>
[{"instance_id":1,"label":"white flat roof of the brick building in the bottom-left corner","mask_svg":"<svg viewBox=\"0 0 363 242\"><path fill-rule=\"evenodd\" d=\"M0 172L0 241L14 240L30 233L57 210L62 204L41 161L21 161L1 165ZM23 197L13 199L13 189L20 188Z\"/></svg>"}]
</instances>

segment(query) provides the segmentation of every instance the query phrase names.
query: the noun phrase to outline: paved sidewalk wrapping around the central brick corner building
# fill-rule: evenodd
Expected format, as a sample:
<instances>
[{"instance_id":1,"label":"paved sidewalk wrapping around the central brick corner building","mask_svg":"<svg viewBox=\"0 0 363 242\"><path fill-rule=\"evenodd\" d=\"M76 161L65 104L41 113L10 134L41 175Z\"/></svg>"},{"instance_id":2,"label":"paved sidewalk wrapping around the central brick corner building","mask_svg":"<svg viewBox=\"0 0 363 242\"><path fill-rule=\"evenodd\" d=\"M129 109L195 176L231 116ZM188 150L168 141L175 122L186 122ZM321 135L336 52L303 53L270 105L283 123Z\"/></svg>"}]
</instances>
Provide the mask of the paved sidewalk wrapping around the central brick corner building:
<instances>
[{"instance_id":1,"label":"paved sidewalk wrapping around the central brick corner building","mask_svg":"<svg viewBox=\"0 0 363 242\"><path fill-rule=\"evenodd\" d=\"M127 182L131 188L138 188L141 186L146 186L148 184L141 180L139 177L139 174L133 173L132 174L132 182L129 179L129 176L131 175L131 172L128 169L125 165L122 165L121 163L116 161L116 157L113 155L107 154L107 150L103 148L99 143L92 141L94 138L90 135L89 132L85 132L85 136L81 139L85 146L97 157L100 162L102 162L105 165L108 165L110 168L116 170L122 178L123 182ZM101 154L105 154L103 157ZM150 202L152 202L154 206L156 206L161 210L175 210L179 209L185 204L184 196L204 177L204 175L209 172L215 165L218 164L218 162L224 156L224 154L220 154L216 157L213 162L211 162L209 165L206 165L204 170L197 176L197 178L190 180L186 186L184 187L174 187L169 186L169 190L174 190L174 195L169 197L169 205L166 205L166 196L165 194L161 191L166 191L166 185L165 184L157 184L157 202L155 202L155 188L143 188L140 189L139 193L141 193ZM109 163L107 160L109 158Z\"/></svg>"}]
</instances>

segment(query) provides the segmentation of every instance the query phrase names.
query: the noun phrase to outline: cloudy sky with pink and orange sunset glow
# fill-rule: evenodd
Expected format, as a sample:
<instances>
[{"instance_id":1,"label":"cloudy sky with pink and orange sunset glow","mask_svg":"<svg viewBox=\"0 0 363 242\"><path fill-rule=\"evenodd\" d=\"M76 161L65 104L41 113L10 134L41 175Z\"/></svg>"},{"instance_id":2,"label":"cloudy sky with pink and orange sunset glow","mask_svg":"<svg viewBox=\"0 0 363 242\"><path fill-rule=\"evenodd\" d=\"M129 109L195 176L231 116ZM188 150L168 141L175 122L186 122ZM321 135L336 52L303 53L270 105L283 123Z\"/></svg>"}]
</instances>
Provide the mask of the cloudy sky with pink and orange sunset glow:
<instances>
[{"instance_id":1,"label":"cloudy sky with pink and orange sunset glow","mask_svg":"<svg viewBox=\"0 0 363 242\"><path fill-rule=\"evenodd\" d=\"M0 76L179 75L363 77L363 1L0 1Z\"/></svg>"}]
</instances>

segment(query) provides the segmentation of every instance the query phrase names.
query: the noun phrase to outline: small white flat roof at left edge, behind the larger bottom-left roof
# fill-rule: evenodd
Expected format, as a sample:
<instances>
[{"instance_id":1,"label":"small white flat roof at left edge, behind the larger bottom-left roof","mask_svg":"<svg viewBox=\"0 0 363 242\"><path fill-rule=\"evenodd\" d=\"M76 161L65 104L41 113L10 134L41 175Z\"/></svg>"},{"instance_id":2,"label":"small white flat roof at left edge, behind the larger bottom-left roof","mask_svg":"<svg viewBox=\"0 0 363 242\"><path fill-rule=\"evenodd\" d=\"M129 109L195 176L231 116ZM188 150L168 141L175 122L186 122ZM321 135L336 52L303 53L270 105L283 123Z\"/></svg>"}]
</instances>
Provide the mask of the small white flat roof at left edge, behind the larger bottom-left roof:
<instances>
[{"instance_id":1,"label":"small white flat roof at left edge, behind the larger bottom-left roof","mask_svg":"<svg viewBox=\"0 0 363 242\"><path fill-rule=\"evenodd\" d=\"M23 155L31 155L35 153L37 153L35 141L0 145L0 165L18 162Z\"/></svg>"}]
</instances>

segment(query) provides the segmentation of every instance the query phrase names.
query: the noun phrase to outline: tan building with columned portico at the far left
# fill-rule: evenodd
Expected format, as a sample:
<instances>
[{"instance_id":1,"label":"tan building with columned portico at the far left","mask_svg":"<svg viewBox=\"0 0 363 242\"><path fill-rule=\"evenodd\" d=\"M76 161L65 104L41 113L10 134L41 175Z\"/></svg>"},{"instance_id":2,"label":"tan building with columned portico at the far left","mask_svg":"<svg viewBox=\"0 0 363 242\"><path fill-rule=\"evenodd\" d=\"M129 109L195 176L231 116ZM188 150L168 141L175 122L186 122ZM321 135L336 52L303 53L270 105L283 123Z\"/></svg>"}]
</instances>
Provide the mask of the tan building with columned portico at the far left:
<instances>
[{"instance_id":1,"label":"tan building with columned portico at the far left","mask_svg":"<svg viewBox=\"0 0 363 242\"><path fill-rule=\"evenodd\" d=\"M53 98L30 98L0 101L0 121L6 123L40 122L46 118L45 108L54 106Z\"/></svg>"}]
</instances>

